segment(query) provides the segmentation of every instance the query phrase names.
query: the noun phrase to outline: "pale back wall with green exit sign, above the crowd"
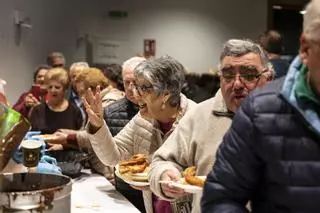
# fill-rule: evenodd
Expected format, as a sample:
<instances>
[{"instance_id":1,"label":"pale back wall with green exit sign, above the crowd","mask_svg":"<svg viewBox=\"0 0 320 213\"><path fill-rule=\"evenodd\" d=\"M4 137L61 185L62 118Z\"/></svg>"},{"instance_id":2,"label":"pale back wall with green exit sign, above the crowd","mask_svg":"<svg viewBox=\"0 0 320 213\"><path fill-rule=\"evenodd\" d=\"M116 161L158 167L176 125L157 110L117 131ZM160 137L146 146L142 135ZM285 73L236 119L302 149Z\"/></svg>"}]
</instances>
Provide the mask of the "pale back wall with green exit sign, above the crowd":
<instances>
[{"instance_id":1,"label":"pale back wall with green exit sign, above the crowd","mask_svg":"<svg viewBox=\"0 0 320 213\"><path fill-rule=\"evenodd\" d=\"M143 39L156 39L157 56L169 54L189 70L207 72L229 38L256 38L267 25L265 0L101 0L81 1L79 35L123 40L123 59L142 52ZM83 9L85 8L85 9ZM109 10L128 11L113 20ZM72 57L72 56L71 56Z\"/></svg>"}]
</instances>

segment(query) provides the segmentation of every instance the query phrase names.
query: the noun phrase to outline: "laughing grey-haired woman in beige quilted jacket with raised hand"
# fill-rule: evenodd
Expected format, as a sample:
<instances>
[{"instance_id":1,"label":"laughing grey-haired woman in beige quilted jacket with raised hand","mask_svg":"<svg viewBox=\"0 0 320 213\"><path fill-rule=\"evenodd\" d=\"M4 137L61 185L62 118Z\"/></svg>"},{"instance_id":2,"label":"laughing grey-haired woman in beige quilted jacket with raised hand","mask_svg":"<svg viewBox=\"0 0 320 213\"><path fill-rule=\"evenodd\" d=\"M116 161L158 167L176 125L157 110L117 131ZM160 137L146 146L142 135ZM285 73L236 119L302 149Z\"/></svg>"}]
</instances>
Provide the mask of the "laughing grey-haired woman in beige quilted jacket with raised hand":
<instances>
[{"instance_id":1,"label":"laughing grey-haired woman in beige quilted jacket with raised hand","mask_svg":"<svg viewBox=\"0 0 320 213\"><path fill-rule=\"evenodd\" d=\"M102 163L115 166L134 154L152 154L170 135L181 117L195 106L182 95L184 67L169 56L141 62L135 69L135 93L140 106L138 113L115 137L103 120L100 93L89 95L84 101L89 117L87 131L91 145ZM146 119L145 119L146 118ZM164 212L170 203L152 199L149 190L143 191L148 213Z\"/></svg>"}]
</instances>

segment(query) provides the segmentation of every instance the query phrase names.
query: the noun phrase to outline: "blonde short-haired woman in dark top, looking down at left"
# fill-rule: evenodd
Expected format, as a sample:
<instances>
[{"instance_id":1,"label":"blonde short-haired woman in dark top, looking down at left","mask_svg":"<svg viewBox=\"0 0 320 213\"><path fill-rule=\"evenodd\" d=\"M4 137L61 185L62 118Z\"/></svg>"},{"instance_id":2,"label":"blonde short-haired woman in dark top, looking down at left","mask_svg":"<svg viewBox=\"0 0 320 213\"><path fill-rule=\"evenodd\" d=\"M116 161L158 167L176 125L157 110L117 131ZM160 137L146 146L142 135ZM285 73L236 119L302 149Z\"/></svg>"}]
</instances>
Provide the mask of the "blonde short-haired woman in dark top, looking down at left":
<instances>
[{"instance_id":1,"label":"blonde short-haired woman in dark top, looking down at left","mask_svg":"<svg viewBox=\"0 0 320 213\"><path fill-rule=\"evenodd\" d=\"M51 134L58 129L78 130L82 125L80 110L65 99L69 86L68 73L63 68L52 68L45 75L48 100L30 112L32 130Z\"/></svg>"}]
</instances>

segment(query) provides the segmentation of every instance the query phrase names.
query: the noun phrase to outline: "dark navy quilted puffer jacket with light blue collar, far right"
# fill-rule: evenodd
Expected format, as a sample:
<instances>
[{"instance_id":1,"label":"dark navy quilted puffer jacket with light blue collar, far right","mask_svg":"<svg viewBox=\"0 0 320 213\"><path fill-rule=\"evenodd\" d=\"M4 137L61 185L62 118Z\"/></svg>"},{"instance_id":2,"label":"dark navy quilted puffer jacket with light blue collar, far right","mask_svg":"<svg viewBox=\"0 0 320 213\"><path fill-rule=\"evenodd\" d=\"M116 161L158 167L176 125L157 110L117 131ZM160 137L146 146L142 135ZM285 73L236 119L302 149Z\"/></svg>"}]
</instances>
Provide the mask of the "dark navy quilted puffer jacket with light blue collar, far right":
<instances>
[{"instance_id":1,"label":"dark navy quilted puffer jacket with light blue collar, far right","mask_svg":"<svg viewBox=\"0 0 320 213\"><path fill-rule=\"evenodd\" d=\"M320 121L294 94L300 60L251 93L217 152L203 212L320 212Z\"/></svg>"}]
</instances>

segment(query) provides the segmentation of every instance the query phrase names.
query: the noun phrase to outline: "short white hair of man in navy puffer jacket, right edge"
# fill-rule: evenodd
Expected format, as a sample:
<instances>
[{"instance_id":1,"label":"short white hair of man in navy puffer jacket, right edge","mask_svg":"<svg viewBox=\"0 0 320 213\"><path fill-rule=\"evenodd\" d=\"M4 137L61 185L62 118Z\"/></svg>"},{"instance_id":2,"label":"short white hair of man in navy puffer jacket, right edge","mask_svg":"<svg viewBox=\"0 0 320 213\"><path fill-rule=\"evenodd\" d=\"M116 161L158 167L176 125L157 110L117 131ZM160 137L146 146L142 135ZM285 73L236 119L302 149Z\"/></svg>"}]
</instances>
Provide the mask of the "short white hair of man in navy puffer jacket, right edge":
<instances>
[{"instance_id":1,"label":"short white hair of man in navy puffer jacket, right edge","mask_svg":"<svg viewBox=\"0 0 320 213\"><path fill-rule=\"evenodd\" d=\"M320 1L311 0L305 9L303 15L303 33L309 38L319 39L320 31Z\"/></svg>"}]
</instances>

